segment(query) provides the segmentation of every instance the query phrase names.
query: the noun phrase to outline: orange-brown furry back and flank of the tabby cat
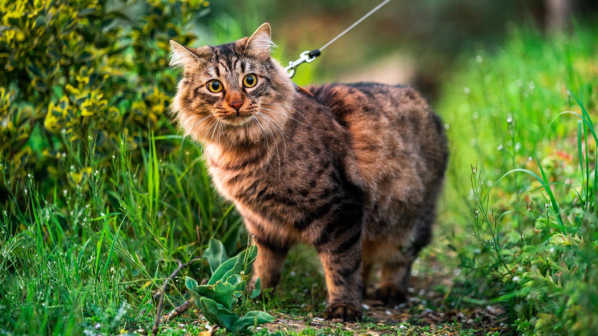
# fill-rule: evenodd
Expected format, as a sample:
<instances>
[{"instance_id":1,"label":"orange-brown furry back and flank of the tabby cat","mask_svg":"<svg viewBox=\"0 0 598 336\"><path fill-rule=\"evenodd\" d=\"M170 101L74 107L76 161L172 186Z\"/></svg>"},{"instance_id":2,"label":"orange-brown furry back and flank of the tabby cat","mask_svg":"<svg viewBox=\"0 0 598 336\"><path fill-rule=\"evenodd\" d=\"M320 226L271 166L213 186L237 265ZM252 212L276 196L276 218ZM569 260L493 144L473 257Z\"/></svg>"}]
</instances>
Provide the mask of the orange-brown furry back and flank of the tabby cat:
<instances>
[{"instance_id":1,"label":"orange-brown furry back and flank of the tabby cat","mask_svg":"<svg viewBox=\"0 0 598 336\"><path fill-rule=\"evenodd\" d=\"M437 193L446 169L446 137L440 118L416 90L378 83L309 90L349 131L371 197L389 195L390 203L404 203L409 212Z\"/></svg>"}]
</instances>

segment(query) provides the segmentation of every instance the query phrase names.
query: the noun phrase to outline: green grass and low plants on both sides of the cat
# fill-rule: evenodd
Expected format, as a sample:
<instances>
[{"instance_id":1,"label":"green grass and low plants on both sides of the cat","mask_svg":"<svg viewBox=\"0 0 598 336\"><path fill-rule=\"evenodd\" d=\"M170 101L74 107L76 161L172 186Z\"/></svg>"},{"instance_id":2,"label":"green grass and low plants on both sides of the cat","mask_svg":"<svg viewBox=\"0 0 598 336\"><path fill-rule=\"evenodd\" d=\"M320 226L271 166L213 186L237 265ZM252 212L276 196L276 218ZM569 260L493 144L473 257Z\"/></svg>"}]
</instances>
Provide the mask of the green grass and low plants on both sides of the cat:
<instances>
[{"instance_id":1,"label":"green grass and low plants on both sides of the cat","mask_svg":"<svg viewBox=\"0 0 598 336\"><path fill-rule=\"evenodd\" d=\"M325 311L324 280L305 246L291 252L273 299L246 308L312 323L285 326L290 335L595 330L598 43L595 27L574 26L556 36L512 29L500 50L466 53L447 80L434 105L446 122L451 164L435 242L413 270L433 294L414 292L398 309L408 313L402 322L313 325ZM307 69L299 84L315 80ZM212 237L229 255L246 247L242 219L212 187L199 145L174 132L136 148L118 139L109 163L100 164L94 142L58 136L68 184L29 175L14 187L0 169L10 192L0 213L0 334L148 331L154 294L178 261L201 256ZM184 268L167 288L164 311L189 298L185 276L208 275L205 261ZM440 277L447 281L428 281ZM498 331L483 316L480 328L453 320L432 327L423 317L486 306L504 307ZM198 314L177 317L161 334L204 331ZM254 332L267 329L280 330Z\"/></svg>"}]
</instances>

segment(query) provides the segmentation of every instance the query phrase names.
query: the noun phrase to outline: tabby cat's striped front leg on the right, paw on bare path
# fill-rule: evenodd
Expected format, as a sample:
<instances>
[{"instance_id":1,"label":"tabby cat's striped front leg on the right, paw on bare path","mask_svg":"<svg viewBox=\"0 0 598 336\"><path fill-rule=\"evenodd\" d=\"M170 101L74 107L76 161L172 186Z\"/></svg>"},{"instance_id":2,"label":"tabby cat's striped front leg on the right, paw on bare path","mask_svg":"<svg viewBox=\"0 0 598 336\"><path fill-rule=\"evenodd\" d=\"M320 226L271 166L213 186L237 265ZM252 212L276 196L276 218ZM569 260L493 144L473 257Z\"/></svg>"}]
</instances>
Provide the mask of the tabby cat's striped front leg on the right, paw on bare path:
<instances>
[{"instance_id":1,"label":"tabby cat's striped front leg on the right, paw on bare path","mask_svg":"<svg viewBox=\"0 0 598 336\"><path fill-rule=\"evenodd\" d=\"M361 226L333 234L328 243L316 248L326 275L328 319L361 320Z\"/></svg>"}]
</instances>

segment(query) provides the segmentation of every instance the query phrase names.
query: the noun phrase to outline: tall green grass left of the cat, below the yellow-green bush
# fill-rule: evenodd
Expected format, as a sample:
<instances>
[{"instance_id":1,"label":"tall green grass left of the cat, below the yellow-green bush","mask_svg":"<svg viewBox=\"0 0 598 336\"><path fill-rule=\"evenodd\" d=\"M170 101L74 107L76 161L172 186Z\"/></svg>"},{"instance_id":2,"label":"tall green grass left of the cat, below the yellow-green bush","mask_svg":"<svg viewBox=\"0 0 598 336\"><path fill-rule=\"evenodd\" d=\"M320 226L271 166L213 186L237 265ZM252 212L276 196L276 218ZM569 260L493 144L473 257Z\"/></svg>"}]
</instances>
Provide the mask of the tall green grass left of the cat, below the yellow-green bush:
<instances>
[{"instance_id":1,"label":"tall green grass left of the cat, below the yellow-green bush","mask_svg":"<svg viewBox=\"0 0 598 336\"><path fill-rule=\"evenodd\" d=\"M186 142L181 155L174 147L158 152L155 143L166 140L180 143L152 137L136 149L142 166L132 166L124 141L109 167L96 165L91 142L69 148L83 158L69 162L73 172L86 175L79 183L41 190L29 177L20 191L26 203L11 195L3 204L0 329L77 334L85 325L99 324L105 333L149 325L153 294L177 259L201 255L213 236L228 251L242 248L240 218L211 187L200 149ZM196 262L181 276L200 277L203 267ZM178 279L166 297L170 305L184 300Z\"/></svg>"}]
</instances>

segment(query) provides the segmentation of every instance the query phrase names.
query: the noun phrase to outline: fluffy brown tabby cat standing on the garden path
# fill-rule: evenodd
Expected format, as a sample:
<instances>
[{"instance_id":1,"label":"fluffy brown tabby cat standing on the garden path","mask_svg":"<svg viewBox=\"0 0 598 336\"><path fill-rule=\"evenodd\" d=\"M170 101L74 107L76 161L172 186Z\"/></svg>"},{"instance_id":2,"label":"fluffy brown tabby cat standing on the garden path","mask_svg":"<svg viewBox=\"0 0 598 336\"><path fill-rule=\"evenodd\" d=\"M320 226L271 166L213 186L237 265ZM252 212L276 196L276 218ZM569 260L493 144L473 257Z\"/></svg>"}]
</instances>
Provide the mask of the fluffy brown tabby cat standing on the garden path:
<instances>
[{"instance_id":1,"label":"fluffy brown tabby cat standing on the garden path","mask_svg":"<svg viewBox=\"0 0 598 336\"><path fill-rule=\"evenodd\" d=\"M218 191L236 204L258 256L252 281L274 288L289 247L315 246L328 319L362 319L362 295L405 301L411 264L431 240L447 165L440 118L408 86L299 88L270 56L270 25L215 47L175 41L184 69L172 111L205 145Z\"/></svg>"}]
</instances>

